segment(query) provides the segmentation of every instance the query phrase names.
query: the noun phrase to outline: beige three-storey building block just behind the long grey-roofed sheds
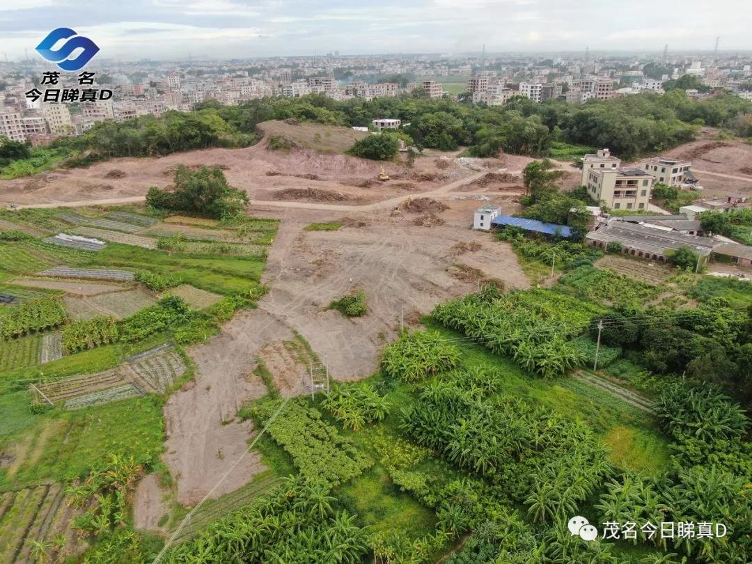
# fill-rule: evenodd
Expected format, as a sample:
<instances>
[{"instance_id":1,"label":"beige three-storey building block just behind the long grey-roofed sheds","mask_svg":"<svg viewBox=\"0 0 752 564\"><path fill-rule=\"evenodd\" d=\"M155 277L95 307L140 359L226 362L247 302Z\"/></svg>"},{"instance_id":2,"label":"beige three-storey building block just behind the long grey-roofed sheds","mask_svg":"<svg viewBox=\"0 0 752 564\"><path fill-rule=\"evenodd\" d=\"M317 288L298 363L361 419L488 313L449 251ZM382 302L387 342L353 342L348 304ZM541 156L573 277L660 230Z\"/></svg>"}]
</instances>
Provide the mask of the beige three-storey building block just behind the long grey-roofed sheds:
<instances>
[{"instance_id":1,"label":"beige three-storey building block just behind the long grey-roofed sheds","mask_svg":"<svg viewBox=\"0 0 752 564\"><path fill-rule=\"evenodd\" d=\"M587 192L614 210L644 210L655 179L641 168L589 168Z\"/></svg>"}]
</instances>

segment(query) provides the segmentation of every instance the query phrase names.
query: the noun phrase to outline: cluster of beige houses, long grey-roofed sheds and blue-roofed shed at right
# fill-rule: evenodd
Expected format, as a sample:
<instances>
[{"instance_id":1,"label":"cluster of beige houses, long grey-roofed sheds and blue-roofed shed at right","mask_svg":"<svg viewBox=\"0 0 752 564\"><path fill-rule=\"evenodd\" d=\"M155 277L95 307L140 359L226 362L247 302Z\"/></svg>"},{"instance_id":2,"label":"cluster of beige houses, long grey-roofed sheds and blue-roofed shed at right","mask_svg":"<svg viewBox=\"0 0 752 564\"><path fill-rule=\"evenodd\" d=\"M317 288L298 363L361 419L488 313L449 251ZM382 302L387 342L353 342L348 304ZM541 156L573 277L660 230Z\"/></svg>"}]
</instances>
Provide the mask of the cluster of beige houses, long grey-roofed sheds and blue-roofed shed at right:
<instances>
[{"instance_id":1,"label":"cluster of beige houses, long grey-roofed sheds and blue-roofed shed at right","mask_svg":"<svg viewBox=\"0 0 752 564\"><path fill-rule=\"evenodd\" d=\"M583 159L582 185L596 202L612 210L649 211L648 205L656 182L697 190L697 179L687 160L657 157L638 165L622 168L620 159L608 149L588 154ZM701 189L700 189L701 190ZM752 266L752 247L702 229L700 214L705 211L731 211L748 205L744 196L698 199L680 208L679 214L628 214L612 216L598 206L589 206L590 231L585 243L593 247L617 248L620 253L656 262L666 262L672 251L689 247L701 262L718 260L739 266ZM653 212L656 210L653 210ZM475 211L474 229L490 231L517 226L523 232L548 238L570 238L572 229L501 214L499 208L484 205Z\"/></svg>"}]
</instances>

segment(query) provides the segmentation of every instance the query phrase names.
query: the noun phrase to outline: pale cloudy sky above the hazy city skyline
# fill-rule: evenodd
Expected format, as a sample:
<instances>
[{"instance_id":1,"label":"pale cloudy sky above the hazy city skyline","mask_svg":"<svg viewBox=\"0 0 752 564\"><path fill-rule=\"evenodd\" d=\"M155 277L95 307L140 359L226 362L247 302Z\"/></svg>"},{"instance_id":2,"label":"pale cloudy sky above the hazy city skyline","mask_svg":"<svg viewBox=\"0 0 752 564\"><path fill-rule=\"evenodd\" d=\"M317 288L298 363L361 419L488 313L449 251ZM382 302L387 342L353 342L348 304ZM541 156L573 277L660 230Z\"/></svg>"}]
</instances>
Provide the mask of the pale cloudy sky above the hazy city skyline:
<instances>
[{"instance_id":1,"label":"pale cloudy sky above the hazy city skyline","mask_svg":"<svg viewBox=\"0 0 752 564\"><path fill-rule=\"evenodd\" d=\"M0 56L51 29L122 60L361 53L752 50L750 0L0 0Z\"/></svg>"}]
</instances>

